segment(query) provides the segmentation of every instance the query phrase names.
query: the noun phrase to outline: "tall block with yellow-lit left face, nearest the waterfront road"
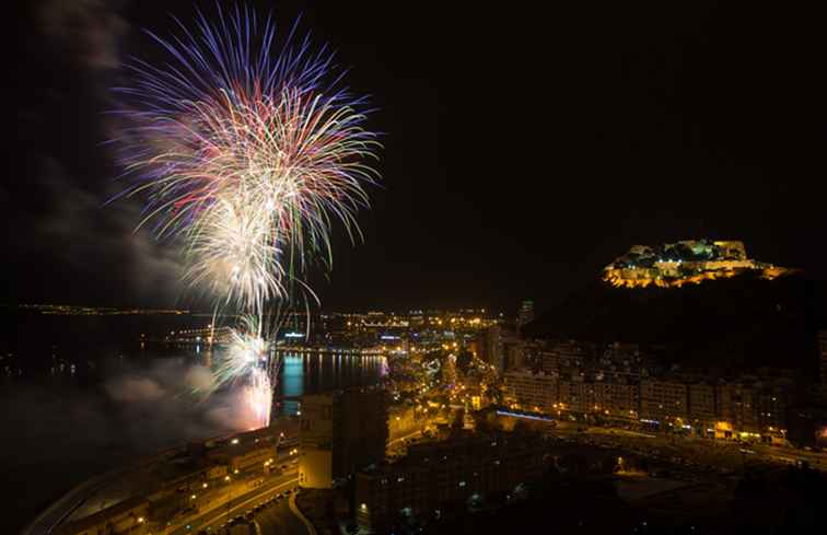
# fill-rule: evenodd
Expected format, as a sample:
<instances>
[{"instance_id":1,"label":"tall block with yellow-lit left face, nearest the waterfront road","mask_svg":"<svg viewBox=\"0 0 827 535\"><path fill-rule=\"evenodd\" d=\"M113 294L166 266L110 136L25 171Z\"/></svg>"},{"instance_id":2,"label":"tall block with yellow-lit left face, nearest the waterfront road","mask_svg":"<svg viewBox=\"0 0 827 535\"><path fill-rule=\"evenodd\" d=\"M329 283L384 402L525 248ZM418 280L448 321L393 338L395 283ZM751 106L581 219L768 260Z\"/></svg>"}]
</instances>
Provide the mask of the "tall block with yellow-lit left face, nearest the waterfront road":
<instances>
[{"instance_id":1,"label":"tall block with yellow-lit left face, nearest the waterfront road","mask_svg":"<svg viewBox=\"0 0 827 535\"><path fill-rule=\"evenodd\" d=\"M349 388L302 398L299 484L330 488L336 479L378 463L387 444L387 396Z\"/></svg>"}]
</instances>

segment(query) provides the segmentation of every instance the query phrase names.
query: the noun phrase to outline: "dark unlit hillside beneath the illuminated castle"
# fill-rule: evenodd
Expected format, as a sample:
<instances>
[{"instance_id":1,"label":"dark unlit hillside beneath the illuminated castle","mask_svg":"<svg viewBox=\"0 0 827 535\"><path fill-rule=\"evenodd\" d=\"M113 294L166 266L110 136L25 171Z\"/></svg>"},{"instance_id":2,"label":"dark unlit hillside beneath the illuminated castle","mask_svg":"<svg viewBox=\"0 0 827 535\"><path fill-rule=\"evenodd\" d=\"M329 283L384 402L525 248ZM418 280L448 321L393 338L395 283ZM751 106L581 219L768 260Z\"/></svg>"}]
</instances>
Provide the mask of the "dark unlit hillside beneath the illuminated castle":
<instances>
[{"instance_id":1,"label":"dark unlit hillside beneath the illuminated castle","mask_svg":"<svg viewBox=\"0 0 827 535\"><path fill-rule=\"evenodd\" d=\"M815 371L825 284L802 275L745 272L680 288L615 288L596 280L524 328L535 338L664 345L688 365Z\"/></svg>"}]
</instances>

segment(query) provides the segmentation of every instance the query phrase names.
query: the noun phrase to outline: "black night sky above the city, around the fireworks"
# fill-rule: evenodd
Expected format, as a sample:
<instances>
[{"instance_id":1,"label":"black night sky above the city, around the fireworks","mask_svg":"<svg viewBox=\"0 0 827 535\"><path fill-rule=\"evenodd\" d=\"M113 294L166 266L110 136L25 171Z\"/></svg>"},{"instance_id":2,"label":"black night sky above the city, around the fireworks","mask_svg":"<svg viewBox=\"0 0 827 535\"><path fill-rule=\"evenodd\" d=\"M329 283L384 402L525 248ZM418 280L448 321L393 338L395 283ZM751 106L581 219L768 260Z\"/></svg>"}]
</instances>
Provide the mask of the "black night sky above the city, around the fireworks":
<instances>
[{"instance_id":1,"label":"black night sky above the city, around the fireworks","mask_svg":"<svg viewBox=\"0 0 827 535\"><path fill-rule=\"evenodd\" d=\"M209 12L213 2L196 2ZM781 3L275 2L329 43L385 132L325 309L543 310L634 243L741 239L827 268L827 33ZM258 2L266 12L267 2ZM533 3L532 3L533 4ZM129 54L191 1L27 2L0 186L5 302L188 305L174 246L132 233L104 114Z\"/></svg>"}]
</instances>

